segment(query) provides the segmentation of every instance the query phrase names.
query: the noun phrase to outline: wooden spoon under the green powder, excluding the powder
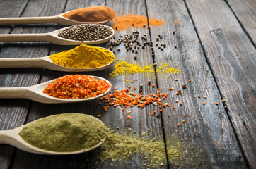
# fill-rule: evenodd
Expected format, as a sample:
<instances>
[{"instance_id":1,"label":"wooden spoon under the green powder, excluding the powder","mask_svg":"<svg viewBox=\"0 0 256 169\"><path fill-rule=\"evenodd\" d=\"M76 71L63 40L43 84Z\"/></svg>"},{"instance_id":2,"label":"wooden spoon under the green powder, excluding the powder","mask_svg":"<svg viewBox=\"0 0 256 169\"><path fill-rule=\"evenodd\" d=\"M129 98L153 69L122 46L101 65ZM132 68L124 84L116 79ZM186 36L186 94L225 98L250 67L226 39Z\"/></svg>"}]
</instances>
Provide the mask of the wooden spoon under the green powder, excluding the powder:
<instances>
[{"instance_id":1,"label":"wooden spoon under the green powder, excluding the powder","mask_svg":"<svg viewBox=\"0 0 256 169\"><path fill-rule=\"evenodd\" d=\"M86 114L84 114L84 115L86 115ZM95 118L91 115L87 115L87 116L89 116L90 118L94 118L96 120L99 120L98 118ZM41 119L38 119L38 120L41 120ZM45 149L40 149L40 148L37 148L35 146L32 146L31 144L28 144L28 142L25 142L22 139L22 137L18 134L19 132L21 132L21 130L23 130L23 127L25 127L27 125L30 125L31 123L35 123L36 121L37 120L35 120L33 122L30 122L26 125L23 125L21 127L17 127L15 129L12 129L12 130L2 130L2 131L0 131L0 144L9 144L9 145L12 145L12 146L16 146L18 149L21 149L23 151L28 151L28 152L34 153L34 154L66 155L66 154L81 154L81 153L86 152L86 151L91 151L92 149L95 149L96 147L100 146L100 144L102 144L105 141L105 138L103 138L103 140L101 140L100 143L96 144L95 146L92 146L89 149L82 149L82 150L79 150L79 151L72 151L72 152L58 152L58 151L48 151L48 150L45 150ZM100 123L103 123L103 122L100 121Z\"/></svg>"}]
</instances>

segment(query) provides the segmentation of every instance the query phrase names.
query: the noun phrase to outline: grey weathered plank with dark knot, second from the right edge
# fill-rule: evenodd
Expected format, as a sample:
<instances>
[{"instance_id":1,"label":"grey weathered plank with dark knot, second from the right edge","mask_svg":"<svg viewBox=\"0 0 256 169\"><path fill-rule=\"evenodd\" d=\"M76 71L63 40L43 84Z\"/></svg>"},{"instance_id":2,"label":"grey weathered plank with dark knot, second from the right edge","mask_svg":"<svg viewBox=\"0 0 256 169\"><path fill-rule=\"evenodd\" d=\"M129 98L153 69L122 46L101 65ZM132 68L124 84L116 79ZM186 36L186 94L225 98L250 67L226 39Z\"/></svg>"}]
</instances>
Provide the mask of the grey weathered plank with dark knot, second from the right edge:
<instances>
[{"instance_id":1,"label":"grey weathered plank with dark knot, second from the right edge","mask_svg":"<svg viewBox=\"0 0 256 169\"><path fill-rule=\"evenodd\" d=\"M255 47L223 1L187 1L227 114L250 168L255 160Z\"/></svg>"}]
</instances>

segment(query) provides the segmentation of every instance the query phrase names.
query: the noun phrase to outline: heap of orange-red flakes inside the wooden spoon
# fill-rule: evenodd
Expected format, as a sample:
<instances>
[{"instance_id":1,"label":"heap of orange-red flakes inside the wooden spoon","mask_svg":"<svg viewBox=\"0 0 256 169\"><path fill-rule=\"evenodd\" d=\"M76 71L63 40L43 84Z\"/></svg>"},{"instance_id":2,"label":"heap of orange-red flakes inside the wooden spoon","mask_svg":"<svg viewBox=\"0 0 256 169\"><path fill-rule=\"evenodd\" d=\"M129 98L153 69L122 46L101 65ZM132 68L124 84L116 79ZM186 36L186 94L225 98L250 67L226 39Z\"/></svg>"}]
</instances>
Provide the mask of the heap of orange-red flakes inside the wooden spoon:
<instances>
[{"instance_id":1,"label":"heap of orange-red flakes inside the wooden spoon","mask_svg":"<svg viewBox=\"0 0 256 169\"><path fill-rule=\"evenodd\" d=\"M59 99L86 99L104 94L111 84L89 75L66 75L52 81L43 93Z\"/></svg>"}]
</instances>

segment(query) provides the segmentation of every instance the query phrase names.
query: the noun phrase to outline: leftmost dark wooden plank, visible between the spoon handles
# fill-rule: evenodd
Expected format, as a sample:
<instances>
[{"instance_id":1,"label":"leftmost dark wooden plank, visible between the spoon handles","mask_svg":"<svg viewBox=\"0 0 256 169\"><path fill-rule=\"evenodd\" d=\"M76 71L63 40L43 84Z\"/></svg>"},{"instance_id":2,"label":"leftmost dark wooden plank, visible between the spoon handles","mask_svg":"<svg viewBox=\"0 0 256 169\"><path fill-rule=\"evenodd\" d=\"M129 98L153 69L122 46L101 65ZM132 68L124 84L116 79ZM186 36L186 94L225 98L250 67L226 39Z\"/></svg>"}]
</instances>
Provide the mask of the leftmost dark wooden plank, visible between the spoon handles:
<instances>
[{"instance_id":1,"label":"leftmost dark wooden plank, visible between the spoon handles","mask_svg":"<svg viewBox=\"0 0 256 169\"><path fill-rule=\"evenodd\" d=\"M61 6L60 1L54 1L52 4L47 1L40 1L40 4L33 5L33 2L27 5L28 1L1 1L1 11L4 17L18 17L18 16L39 16L39 15L57 15L62 11L56 9L53 10L54 4ZM42 8L50 7L50 11L43 11ZM25 8L26 7L26 8ZM24 10L25 8L25 10ZM2 14L2 13L1 13ZM21 15L22 14L22 15ZM37 28L38 25L18 25L13 27L12 33L33 33L33 32L47 32L54 30ZM7 29L6 29L7 30ZM9 33L4 29L1 29L1 33ZM1 48L1 58L19 58L19 57L41 57L47 56L49 53L50 44L44 43L10 43L4 44ZM25 87L40 82L40 76L42 73L41 68L24 68L24 69L1 69L1 87ZM30 111L32 101L28 99L1 99L0 102L1 112L1 130L9 130L25 123L27 115ZM1 145L0 146L0 163L1 168L10 168L12 162L16 156L16 149L12 146ZM19 157L21 158L21 157Z\"/></svg>"}]
</instances>

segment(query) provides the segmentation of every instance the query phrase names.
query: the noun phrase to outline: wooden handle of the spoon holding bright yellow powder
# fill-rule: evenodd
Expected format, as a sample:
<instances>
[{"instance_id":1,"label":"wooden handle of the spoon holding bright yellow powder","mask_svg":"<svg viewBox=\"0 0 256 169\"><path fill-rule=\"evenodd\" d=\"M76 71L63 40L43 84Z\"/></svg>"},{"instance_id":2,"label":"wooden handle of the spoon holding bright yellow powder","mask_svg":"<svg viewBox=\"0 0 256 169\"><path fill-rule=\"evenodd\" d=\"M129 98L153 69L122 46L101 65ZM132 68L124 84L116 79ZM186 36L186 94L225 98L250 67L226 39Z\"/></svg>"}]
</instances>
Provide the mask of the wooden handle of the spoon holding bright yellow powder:
<instances>
[{"instance_id":1,"label":"wooden handle of the spoon holding bright yellow powder","mask_svg":"<svg viewBox=\"0 0 256 169\"><path fill-rule=\"evenodd\" d=\"M0 58L0 68L43 68L41 58Z\"/></svg>"}]
</instances>

